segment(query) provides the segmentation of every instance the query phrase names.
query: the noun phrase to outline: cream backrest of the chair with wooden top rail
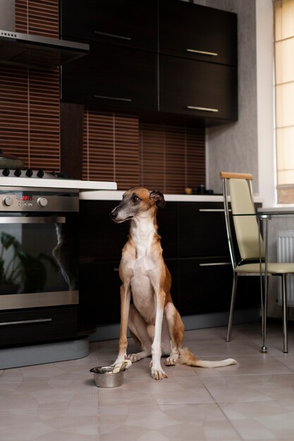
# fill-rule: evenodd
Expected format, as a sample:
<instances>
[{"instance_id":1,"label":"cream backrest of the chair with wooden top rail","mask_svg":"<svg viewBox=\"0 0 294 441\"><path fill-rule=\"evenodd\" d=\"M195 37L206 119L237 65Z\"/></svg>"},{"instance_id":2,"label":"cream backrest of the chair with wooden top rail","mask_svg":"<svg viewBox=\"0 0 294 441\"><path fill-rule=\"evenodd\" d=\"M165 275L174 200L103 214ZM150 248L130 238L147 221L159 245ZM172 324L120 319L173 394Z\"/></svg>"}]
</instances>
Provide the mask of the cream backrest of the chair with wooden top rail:
<instances>
[{"instance_id":1,"label":"cream backrest of the chair with wooden top rail","mask_svg":"<svg viewBox=\"0 0 294 441\"><path fill-rule=\"evenodd\" d=\"M226 230L233 267L237 265L233 248L233 236L229 216L228 197L231 199L231 212L240 257L243 260L259 259L259 228L255 216L252 196L253 176L248 173L219 173L223 180L223 202L226 216ZM239 216L238 216L239 215ZM243 216L240 216L243 215ZM248 215L248 216L245 216ZM264 257L264 243L260 237L261 254Z\"/></svg>"}]
</instances>

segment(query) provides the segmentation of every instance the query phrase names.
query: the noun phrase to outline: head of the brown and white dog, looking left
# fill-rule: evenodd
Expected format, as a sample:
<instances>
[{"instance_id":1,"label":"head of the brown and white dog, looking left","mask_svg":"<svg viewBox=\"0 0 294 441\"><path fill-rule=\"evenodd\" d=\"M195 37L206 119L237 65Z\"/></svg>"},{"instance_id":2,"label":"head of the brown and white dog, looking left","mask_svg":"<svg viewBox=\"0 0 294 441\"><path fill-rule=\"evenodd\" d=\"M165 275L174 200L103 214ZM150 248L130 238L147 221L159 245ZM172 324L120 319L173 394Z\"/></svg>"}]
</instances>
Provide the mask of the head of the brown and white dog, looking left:
<instances>
[{"instance_id":1,"label":"head of the brown and white dog, looking left","mask_svg":"<svg viewBox=\"0 0 294 441\"><path fill-rule=\"evenodd\" d=\"M155 215L157 207L164 207L165 204L164 195L158 190L150 192L147 188L133 187L123 194L123 200L109 216L114 222L121 223L149 210Z\"/></svg>"}]
</instances>

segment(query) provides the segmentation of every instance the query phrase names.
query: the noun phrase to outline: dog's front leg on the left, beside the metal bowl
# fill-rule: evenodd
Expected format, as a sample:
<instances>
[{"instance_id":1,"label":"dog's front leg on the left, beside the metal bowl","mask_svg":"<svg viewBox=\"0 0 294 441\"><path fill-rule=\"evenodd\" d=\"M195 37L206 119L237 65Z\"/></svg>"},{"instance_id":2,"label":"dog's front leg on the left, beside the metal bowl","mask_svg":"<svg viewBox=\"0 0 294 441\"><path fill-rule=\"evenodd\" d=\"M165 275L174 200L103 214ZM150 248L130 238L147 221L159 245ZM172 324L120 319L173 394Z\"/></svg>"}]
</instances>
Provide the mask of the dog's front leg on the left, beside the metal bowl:
<instances>
[{"instance_id":1,"label":"dog's front leg on the left, beside the metal bowl","mask_svg":"<svg viewBox=\"0 0 294 441\"><path fill-rule=\"evenodd\" d=\"M114 364L121 363L127 356L128 314L130 311L130 283L121 285L121 329L119 334L118 357Z\"/></svg>"}]
</instances>

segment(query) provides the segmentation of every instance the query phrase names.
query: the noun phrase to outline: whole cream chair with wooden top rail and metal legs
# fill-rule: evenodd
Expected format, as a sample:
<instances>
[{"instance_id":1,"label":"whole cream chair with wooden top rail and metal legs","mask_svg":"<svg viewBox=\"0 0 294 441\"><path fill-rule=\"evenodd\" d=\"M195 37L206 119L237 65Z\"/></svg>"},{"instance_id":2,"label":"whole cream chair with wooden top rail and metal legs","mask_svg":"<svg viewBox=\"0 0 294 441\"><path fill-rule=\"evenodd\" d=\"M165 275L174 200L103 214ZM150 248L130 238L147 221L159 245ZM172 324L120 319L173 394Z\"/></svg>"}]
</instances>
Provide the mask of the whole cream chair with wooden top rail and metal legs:
<instances>
[{"instance_id":1,"label":"whole cream chair with wooden top rail and metal legs","mask_svg":"<svg viewBox=\"0 0 294 441\"><path fill-rule=\"evenodd\" d=\"M231 330L233 324L233 310L235 304L235 294L237 290L238 277L241 275L260 275L261 278L261 299L262 299L262 352L267 352L266 333L267 333L267 278L262 283L265 265L264 242L259 233L259 224L255 215L255 204L252 196L253 176L245 173L220 172L223 181L223 204L226 217L226 232L228 235L228 246L233 265L233 289L231 294L231 308L228 319L228 333L226 341L231 341ZM231 222L228 197L231 198ZM240 216L240 215L249 216ZM239 216L238 216L239 215ZM236 257L233 235L238 245L240 259ZM240 260L240 261L237 261ZM271 263L267 264L267 275L279 275L282 282L282 309L283 309L283 352L288 352L288 317L287 317L287 292L286 276L294 273L294 263ZM264 295L263 295L264 293Z\"/></svg>"}]
</instances>

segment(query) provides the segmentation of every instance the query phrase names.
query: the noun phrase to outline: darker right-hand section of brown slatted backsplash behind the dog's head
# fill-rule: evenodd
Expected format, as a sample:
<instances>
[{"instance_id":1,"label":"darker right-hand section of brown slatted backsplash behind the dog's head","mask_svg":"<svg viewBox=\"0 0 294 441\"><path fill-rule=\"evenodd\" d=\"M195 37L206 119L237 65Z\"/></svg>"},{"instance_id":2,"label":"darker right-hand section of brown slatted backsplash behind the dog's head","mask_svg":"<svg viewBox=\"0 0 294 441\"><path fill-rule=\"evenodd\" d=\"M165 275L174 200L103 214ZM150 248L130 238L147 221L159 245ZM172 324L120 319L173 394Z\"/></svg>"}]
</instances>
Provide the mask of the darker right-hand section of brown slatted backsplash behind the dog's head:
<instances>
[{"instance_id":1,"label":"darker right-hand section of brown slatted backsplash behind the dog's head","mask_svg":"<svg viewBox=\"0 0 294 441\"><path fill-rule=\"evenodd\" d=\"M165 193L205 184L205 130L141 123L141 182Z\"/></svg>"}]
</instances>

